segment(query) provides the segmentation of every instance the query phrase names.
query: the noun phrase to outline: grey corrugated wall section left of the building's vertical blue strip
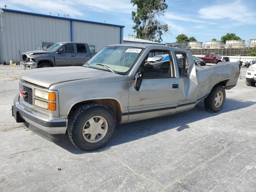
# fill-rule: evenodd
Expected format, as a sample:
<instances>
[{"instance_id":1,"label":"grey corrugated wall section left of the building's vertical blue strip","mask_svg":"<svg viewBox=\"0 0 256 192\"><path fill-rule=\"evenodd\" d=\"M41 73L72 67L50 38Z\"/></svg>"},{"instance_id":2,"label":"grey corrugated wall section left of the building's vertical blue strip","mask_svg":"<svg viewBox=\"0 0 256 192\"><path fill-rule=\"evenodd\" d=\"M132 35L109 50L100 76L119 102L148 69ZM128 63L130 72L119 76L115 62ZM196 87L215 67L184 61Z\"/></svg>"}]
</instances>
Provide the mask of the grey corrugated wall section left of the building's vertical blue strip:
<instances>
[{"instance_id":1,"label":"grey corrugated wall section left of the building's vertical blue strip","mask_svg":"<svg viewBox=\"0 0 256 192\"><path fill-rule=\"evenodd\" d=\"M0 62L18 62L20 53L36 50L41 42L70 41L70 21L4 12L0 30Z\"/></svg>"}]
</instances>

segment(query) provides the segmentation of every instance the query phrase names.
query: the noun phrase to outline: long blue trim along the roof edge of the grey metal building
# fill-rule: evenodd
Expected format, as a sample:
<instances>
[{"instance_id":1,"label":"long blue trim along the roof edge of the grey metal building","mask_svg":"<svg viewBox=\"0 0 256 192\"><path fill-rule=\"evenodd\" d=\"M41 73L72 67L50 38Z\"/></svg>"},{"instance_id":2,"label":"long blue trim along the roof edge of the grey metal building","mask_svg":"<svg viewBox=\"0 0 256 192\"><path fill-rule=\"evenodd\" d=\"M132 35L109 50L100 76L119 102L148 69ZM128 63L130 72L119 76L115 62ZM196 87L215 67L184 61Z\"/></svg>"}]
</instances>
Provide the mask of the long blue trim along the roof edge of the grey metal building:
<instances>
[{"instance_id":1,"label":"long blue trim along the roof edge of the grey metal building","mask_svg":"<svg viewBox=\"0 0 256 192\"><path fill-rule=\"evenodd\" d=\"M72 18L65 18L65 17L59 17L59 16L52 16L52 15L44 15L44 14L39 14L39 13L31 13L31 12L26 12L26 11L18 11L18 10L5 9L5 8L2 8L2 10L3 10L3 11L7 11L7 12L22 13L22 14L28 14L28 15L41 16L41 17L55 18L55 19L64 19L64 20L79 21L79 22L84 22L84 23L92 23L92 24L116 26L116 27L120 27L120 28L124 28L124 27L125 27L125 26L122 26L122 25L114 25L114 24L109 24L109 23L100 23L100 22L95 22L95 21L87 21L87 20L80 20L80 19L72 19Z\"/></svg>"}]
</instances>

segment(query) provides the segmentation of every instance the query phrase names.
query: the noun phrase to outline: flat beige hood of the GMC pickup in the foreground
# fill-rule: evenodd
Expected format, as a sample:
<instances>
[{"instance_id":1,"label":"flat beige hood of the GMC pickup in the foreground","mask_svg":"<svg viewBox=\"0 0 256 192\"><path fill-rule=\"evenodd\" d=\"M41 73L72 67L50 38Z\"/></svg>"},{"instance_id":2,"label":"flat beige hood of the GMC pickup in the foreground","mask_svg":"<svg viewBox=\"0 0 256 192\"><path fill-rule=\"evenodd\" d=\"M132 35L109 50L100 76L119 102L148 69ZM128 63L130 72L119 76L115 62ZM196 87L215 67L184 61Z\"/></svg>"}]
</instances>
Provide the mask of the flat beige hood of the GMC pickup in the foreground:
<instances>
[{"instance_id":1,"label":"flat beige hood of the GMC pickup in the foreground","mask_svg":"<svg viewBox=\"0 0 256 192\"><path fill-rule=\"evenodd\" d=\"M26 70L20 74L20 81L50 88L62 82L116 76L120 74L87 67L49 67Z\"/></svg>"}]
</instances>

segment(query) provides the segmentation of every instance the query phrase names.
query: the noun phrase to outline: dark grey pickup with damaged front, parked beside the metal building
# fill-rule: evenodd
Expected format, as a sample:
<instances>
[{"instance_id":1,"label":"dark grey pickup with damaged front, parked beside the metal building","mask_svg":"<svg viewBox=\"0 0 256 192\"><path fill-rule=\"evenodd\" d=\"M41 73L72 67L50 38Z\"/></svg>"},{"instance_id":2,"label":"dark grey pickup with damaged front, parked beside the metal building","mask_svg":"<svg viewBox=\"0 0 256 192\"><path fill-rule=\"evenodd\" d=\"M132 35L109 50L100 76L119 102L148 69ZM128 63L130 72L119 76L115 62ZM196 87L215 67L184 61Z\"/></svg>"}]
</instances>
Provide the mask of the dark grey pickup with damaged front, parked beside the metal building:
<instances>
[{"instance_id":1,"label":"dark grey pickup with damaged front, parked beside the metal building","mask_svg":"<svg viewBox=\"0 0 256 192\"><path fill-rule=\"evenodd\" d=\"M60 42L46 50L22 53L20 65L23 69L82 66L94 54L90 53L89 46L86 43Z\"/></svg>"}]
</instances>

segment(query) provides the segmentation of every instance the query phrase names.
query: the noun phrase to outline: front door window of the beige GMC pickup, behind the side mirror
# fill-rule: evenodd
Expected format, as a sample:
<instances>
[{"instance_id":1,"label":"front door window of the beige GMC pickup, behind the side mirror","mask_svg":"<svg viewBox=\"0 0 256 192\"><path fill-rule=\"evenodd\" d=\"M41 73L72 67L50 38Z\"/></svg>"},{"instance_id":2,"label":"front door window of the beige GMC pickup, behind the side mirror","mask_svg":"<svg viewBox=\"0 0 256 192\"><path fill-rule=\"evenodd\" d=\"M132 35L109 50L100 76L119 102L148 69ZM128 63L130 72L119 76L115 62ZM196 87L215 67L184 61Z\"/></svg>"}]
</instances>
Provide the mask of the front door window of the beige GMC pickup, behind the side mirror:
<instances>
[{"instance_id":1,"label":"front door window of the beige GMC pickup, behind the side mirror","mask_svg":"<svg viewBox=\"0 0 256 192\"><path fill-rule=\"evenodd\" d=\"M169 50L152 50L148 53L144 66L143 78L171 78L175 77L173 60ZM163 58L165 58L163 60Z\"/></svg>"}]
</instances>

